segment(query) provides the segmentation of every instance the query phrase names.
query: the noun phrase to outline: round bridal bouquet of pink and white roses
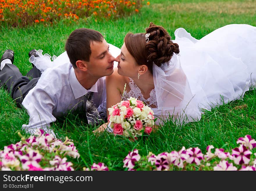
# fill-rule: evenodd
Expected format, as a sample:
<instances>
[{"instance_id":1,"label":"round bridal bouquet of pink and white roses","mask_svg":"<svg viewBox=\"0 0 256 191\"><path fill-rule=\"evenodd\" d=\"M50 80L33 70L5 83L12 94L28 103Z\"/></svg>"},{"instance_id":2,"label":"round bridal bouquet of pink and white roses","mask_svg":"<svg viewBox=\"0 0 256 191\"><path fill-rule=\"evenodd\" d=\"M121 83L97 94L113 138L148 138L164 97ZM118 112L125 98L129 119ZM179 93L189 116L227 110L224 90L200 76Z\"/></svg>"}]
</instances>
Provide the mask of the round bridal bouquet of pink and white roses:
<instances>
[{"instance_id":1,"label":"round bridal bouquet of pink and white roses","mask_svg":"<svg viewBox=\"0 0 256 191\"><path fill-rule=\"evenodd\" d=\"M108 111L108 127L115 135L136 139L143 132L149 135L155 123L151 108L133 97L108 108Z\"/></svg>"}]
</instances>

